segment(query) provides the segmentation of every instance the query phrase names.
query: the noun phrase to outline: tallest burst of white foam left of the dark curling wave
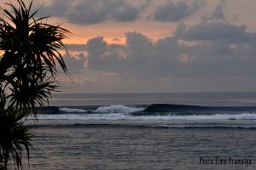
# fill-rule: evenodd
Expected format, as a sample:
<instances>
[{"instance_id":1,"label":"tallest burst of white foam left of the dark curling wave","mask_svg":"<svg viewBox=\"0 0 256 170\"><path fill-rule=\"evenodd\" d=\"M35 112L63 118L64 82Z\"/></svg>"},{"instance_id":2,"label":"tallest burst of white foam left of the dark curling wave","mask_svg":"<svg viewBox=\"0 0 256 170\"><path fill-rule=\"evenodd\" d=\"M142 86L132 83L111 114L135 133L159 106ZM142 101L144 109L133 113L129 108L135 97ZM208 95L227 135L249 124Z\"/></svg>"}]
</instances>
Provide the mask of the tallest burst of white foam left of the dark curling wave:
<instances>
[{"instance_id":1,"label":"tallest burst of white foam left of the dark curling wave","mask_svg":"<svg viewBox=\"0 0 256 170\"><path fill-rule=\"evenodd\" d=\"M125 105L109 105L96 109L96 113L131 113L135 111L143 111L143 108L129 107Z\"/></svg>"}]
</instances>

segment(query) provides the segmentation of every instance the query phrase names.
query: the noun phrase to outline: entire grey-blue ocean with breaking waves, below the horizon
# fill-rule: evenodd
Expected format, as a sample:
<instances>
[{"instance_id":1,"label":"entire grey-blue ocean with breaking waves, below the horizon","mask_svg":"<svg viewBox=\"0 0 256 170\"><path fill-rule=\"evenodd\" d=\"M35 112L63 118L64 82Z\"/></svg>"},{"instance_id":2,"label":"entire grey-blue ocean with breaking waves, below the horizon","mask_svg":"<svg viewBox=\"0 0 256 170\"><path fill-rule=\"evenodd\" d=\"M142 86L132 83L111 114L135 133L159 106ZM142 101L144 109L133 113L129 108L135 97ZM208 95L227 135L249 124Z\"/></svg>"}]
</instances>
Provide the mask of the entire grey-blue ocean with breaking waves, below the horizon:
<instances>
[{"instance_id":1,"label":"entire grey-blue ocean with breaking waves, below the horizon","mask_svg":"<svg viewBox=\"0 0 256 170\"><path fill-rule=\"evenodd\" d=\"M256 93L54 94L30 169L256 169Z\"/></svg>"}]
</instances>

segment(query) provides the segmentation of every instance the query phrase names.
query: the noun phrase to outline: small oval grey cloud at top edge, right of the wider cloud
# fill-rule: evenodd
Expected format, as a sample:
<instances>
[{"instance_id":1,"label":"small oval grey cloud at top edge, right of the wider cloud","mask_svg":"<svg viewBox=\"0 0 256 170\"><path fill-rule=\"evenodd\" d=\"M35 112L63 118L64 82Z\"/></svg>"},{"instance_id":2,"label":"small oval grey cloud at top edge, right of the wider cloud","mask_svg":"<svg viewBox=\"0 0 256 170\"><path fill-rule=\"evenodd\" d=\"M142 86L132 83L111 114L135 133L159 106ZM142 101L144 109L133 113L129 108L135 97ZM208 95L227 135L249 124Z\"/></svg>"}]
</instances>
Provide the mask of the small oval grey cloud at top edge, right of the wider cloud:
<instances>
[{"instance_id":1,"label":"small oval grey cloud at top edge, right of the wider cloud","mask_svg":"<svg viewBox=\"0 0 256 170\"><path fill-rule=\"evenodd\" d=\"M162 22L177 22L187 19L203 5L204 3L202 3L202 1L177 1L177 3L167 1L165 4L155 9L153 19Z\"/></svg>"}]
</instances>

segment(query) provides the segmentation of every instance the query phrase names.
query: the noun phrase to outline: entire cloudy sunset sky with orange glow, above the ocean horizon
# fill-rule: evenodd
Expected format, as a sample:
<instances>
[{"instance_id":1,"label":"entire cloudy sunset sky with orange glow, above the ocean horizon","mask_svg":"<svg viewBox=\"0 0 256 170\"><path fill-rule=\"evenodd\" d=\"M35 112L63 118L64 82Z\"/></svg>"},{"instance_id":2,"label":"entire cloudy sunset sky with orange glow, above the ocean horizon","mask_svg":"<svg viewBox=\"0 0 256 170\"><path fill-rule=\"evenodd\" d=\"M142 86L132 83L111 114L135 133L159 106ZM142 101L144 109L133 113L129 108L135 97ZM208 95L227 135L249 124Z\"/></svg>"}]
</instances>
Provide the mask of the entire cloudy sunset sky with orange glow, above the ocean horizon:
<instances>
[{"instance_id":1,"label":"entire cloudy sunset sky with orange glow, above the ocean horizon","mask_svg":"<svg viewBox=\"0 0 256 170\"><path fill-rule=\"evenodd\" d=\"M29 2L29 1L26 1ZM1 6L5 7L3 1ZM62 93L256 91L255 0L34 0L71 31Z\"/></svg>"}]
</instances>

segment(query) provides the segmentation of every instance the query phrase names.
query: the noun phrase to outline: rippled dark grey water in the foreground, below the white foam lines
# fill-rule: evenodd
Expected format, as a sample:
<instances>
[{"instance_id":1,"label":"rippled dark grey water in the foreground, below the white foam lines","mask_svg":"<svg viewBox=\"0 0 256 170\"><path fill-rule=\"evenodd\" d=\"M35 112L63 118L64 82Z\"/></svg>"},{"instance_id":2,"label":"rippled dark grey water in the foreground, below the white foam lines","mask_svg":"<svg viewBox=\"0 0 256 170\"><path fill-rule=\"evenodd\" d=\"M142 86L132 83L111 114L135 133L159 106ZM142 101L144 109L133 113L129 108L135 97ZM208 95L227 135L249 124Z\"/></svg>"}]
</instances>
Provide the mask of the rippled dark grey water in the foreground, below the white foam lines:
<instances>
[{"instance_id":1,"label":"rippled dark grey water in the foreground, below the white foam lines","mask_svg":"<svg viewBox=\"0 0 256 170\"><path fill-rule=\"evenodd\" d=\"M34 128L31 169L256 169L254 128L155 123L47 122Z\"/></svg>"}]
</instances>

